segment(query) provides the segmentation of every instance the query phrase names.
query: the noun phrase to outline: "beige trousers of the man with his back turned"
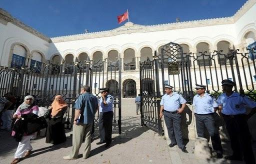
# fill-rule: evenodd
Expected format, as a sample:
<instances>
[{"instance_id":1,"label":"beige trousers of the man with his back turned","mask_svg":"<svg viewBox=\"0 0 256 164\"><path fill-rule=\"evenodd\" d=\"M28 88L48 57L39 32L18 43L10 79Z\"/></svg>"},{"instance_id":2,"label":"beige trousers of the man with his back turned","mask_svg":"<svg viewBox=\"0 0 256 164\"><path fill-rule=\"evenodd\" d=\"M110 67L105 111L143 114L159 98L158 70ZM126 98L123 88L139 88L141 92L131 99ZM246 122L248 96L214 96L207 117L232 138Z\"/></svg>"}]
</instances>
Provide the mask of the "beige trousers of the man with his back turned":
<instances>
[{"instance_id":1,"label":"beige trousers of the man with his back turned","mask_svg":"<svg viewBox=\"0 0 256 164\"><path fill-rule=\"evenodd\" d=\"M77 158L79 149L82 144L82 139L85 135L84 149L82 153L82 158L86 159L90 155L90 133L91 133L92 123L91 124L78 124L73 125L73 135L72 135L72 153L71 158Z\"/></svg>"}]
</instances>

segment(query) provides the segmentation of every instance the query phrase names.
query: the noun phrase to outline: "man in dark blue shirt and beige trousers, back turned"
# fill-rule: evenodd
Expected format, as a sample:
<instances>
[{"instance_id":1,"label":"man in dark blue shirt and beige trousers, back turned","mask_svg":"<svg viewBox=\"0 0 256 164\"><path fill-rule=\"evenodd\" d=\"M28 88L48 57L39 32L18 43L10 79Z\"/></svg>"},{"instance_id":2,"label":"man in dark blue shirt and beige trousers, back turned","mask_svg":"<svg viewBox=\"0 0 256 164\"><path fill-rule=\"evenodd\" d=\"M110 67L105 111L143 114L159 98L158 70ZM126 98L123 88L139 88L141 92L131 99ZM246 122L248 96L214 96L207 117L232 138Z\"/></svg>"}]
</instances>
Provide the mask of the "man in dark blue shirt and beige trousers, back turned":
<instances>
[{"instance_id":1,"label":"man in dark blue shirt and beige trousers, back turned","mask_svg":"<svg viewBox=\"0 0 256 164\"><path fill-rule=\"evenodd\" d=\"M72 152L69 156L63 157L64 160L77 159L80 146L84 141L84 152L82 157L88 158L90 155L90 134L94 115L98 110L97 98L89 93L89 86L81 87L81 95L74 104L74 121L73 121L73 135L72 135Z\"/></svg>"}]
</instances>

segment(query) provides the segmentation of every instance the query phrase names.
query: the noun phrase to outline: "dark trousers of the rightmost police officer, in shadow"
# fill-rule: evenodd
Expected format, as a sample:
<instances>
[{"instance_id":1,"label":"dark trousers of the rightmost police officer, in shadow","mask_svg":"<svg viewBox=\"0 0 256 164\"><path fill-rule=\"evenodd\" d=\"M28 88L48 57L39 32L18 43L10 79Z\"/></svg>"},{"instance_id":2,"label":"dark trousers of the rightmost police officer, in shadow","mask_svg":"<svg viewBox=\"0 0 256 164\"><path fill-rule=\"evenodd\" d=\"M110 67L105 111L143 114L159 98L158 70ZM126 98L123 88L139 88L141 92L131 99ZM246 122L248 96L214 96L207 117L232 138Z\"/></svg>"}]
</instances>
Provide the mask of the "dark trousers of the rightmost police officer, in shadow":
<instances>
[{"instance_id":1,"label":"dark trousers of the rightmost police officer, in shadow","mask_svg":"<svg viewBox=\"0 0 256 164\"><path fill-rule=\"evenodd\" d=\"M230 138L233 156L242 158L243 155L246 164L255 164L245 115L222 115Z\"/></svg>"}]
</instances>

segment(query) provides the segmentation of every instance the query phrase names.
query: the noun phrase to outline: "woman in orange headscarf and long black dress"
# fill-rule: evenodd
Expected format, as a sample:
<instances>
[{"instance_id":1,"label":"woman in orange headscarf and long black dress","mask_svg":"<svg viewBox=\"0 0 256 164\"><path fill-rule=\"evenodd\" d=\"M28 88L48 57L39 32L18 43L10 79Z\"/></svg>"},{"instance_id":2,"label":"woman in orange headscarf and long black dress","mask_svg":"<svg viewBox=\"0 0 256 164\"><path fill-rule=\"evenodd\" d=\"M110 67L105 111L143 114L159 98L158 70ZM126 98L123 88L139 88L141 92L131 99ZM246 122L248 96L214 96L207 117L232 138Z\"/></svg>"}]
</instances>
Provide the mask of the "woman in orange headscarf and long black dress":
<instances>
[{"instance_id":1,"label":"woman in orange headscarf and long black dress","mask_svg":"<svg viewBox=\"0 0 256 164\"><path fill-rule=\"evenodd\" d=\"M67 104L64 99L57 95L51 104L51 113L46 130L46 143L61 144L66 141L63 115L66 112Z\"/></svg>"}]
</instances>

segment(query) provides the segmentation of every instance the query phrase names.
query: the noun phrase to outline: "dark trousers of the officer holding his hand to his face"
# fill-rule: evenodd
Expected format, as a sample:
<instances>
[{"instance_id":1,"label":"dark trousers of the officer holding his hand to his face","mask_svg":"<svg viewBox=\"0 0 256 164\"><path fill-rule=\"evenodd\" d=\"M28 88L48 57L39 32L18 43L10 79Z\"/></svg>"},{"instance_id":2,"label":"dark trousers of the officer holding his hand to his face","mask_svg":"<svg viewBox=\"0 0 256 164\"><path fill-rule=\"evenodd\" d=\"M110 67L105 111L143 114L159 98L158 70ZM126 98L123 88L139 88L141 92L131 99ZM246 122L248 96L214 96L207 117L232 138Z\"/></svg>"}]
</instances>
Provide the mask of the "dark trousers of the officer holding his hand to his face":
<instances>
[{"instance_id":1,"label":"dark trousers of the officer holding his hand to his face","mask_svg":"<svg viewBox=\"0 0 256 164\"><path fill-rule=\"evenodd\" d=\"M112 124L113 124L113 112L99 113L99 138L101 142L106 142L106 144L111 143L112 135Z\"/></svg>"}]
</instances>

